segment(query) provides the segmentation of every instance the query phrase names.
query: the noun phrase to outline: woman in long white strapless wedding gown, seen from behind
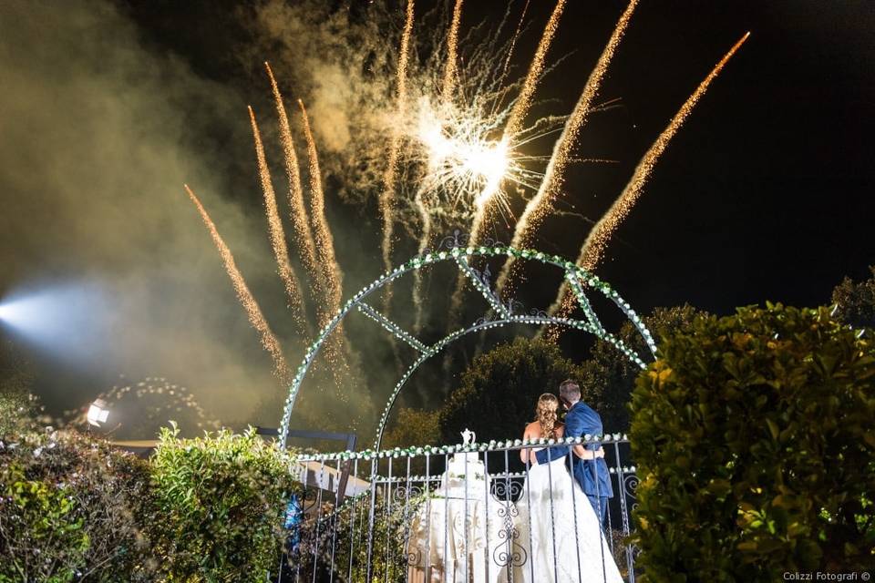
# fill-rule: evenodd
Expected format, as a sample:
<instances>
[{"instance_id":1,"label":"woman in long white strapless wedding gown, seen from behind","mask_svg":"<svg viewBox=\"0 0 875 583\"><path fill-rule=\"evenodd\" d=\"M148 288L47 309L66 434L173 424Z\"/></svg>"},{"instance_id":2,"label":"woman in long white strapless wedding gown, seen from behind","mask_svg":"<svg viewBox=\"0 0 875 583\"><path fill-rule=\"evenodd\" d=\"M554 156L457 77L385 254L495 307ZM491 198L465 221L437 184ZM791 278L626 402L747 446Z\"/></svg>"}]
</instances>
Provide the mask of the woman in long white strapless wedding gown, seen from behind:
<instances>
[{"instance_id":1,"label":"woman in long white strapless wedding gown, seen from behind","mask_svg":"<svg viewBox=\"0 0 875 583\"><path fill-rule=\"evenodd\" d=\"M561 439L565 427L557 421L558 410L555 395L540 395L537 419L526 426L523 439ZM599 519L566 467L568 456L539 465L535 453L540 449L520 450L520 458L530 469L517 502L518 540L530 553L529 561L514 569L514 580L622 583ZM578 448L578 452L582 459L604 456L603 449Z\"/></svg>"}]
</instances>

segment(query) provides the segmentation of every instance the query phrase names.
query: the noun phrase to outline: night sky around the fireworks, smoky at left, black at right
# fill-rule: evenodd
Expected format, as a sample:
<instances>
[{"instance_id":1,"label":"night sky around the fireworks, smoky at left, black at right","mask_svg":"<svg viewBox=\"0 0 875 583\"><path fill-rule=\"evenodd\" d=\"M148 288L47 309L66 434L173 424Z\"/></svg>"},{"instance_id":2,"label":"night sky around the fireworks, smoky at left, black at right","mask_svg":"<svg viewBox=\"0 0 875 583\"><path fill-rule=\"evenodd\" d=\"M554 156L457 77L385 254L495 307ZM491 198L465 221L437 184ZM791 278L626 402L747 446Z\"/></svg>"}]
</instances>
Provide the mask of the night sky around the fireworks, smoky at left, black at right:
<instances>
[{"instance_id":1,"label":"night sky around the fireworks, smoky at left, black at right","mask_svg":"<svg viewBox=\"0 0 875 583\"><path fill-rule=\"evenodd\" d=\"M72 322L78 340L49 346L0 328L39 364L37 388L50 403L73 406L120 373L155 369L200 390L220 415L239 413L232 397L243 386L282 392L271 388L270 363L181 190L188 181L202 193L282 337L289 328L263 234L245 105L273 126L259 67L277 63L288 99L296 97L295 76L284 67L290 57L279 55L283 46L253 24L265 4L0 6L0 78L15 71L0 97L0 127L7 126L0 131L0 298L86 280L108 282L101 290L110 296L97 303L112 322L93 333L88 322ZM335 5L354 20L370 17L366 3ZM417 2L417 14L431 5ZM550 54L562 60L540 87L536 114L571 111L624 5L569 2ZM518 72L551 9L551 2L531 2ZM463 32L503 11L500 2L468 0ZM600 101L618 101L591 118L579 142L582 157L613 162L571 169L561 210L580 216L549 220L536 246L577 256L589 221L610 206L699 81L750 31L665 152L599 275L638 312L684 302L715 313L767 300L829 302L843 277L865 278L875 264L873 30L875 6L865 0L643 1L600 92ZM386 31L386 42L396 44L396 33ZM97 114L88 115L91 107ZM550 150L546 142L538 147ZM56 174L63 178L46 178ZM281 177L277 170L274 179ZM327 204L339 260L349 266L348 297L382 271L376 202L329 191ZM500 229L496 236L510 240ZM362 250L366 261L359 261ZM553 289L532 297L549 302ZM126 300L108 315L117 305L113 294ZM65 353L94 338L83 358ZM181 355L154 349L177 342L200 347ZM187 374L187 366L197 372Z\"/></svg>"}]
</instances>

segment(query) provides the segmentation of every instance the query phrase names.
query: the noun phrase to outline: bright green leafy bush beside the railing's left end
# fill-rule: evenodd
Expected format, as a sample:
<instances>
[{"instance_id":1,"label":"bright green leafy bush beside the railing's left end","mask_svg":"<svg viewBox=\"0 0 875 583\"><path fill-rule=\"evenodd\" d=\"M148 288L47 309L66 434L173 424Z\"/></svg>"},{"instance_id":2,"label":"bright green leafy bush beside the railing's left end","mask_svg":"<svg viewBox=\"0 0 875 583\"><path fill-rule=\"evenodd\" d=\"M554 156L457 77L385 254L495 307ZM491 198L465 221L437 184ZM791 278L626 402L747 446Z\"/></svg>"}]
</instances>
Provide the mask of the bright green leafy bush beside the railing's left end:
<instances>
[{"instance_id":1,"label":"bright green leafy bush beside the railing's left end","mask_svg":"<svg viewBox=\"0 0 875 583\"><path fill-rule=\"evenodd\" d=\"M152 456L153 539L170 581L262 581L282 542L293 454L250 428L180 440L164 428Z\"/></svg>"}]
</instances>

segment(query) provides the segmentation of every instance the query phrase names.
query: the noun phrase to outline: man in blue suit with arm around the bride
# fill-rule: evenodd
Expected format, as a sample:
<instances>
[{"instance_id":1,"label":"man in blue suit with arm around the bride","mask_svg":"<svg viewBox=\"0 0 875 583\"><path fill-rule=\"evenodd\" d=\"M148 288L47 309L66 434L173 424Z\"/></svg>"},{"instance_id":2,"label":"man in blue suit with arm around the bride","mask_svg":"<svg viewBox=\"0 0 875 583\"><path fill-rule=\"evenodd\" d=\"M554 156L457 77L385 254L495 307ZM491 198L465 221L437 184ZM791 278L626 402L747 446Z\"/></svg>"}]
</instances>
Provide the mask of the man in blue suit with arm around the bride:
<instances>
[{"instance_id":1,"label":"man in blue suit with arm around the bride","mask_svg":"<svg viewBox=\"0 0 875 583\"><path fill-rule=\"evenodd\" d=\"M602 417L592 408L582 403L581 387L575 381L562 381L559 385L559 400L568 410L565 415L565 436L582 437L583 435L602 435ZM598 450L599 444L587 444L587 449ZM535 456L539 464L547 464L562 455L568 455L569 449L574 453L583 453L584 445L555 445L540 450ZM572 475L581 485L586 497L589 498L599 522L603 525L608 515L608 498L613 497L611 475L603 457L596 459L581 459L572 455Z\"/></svg>"}]
</instances>

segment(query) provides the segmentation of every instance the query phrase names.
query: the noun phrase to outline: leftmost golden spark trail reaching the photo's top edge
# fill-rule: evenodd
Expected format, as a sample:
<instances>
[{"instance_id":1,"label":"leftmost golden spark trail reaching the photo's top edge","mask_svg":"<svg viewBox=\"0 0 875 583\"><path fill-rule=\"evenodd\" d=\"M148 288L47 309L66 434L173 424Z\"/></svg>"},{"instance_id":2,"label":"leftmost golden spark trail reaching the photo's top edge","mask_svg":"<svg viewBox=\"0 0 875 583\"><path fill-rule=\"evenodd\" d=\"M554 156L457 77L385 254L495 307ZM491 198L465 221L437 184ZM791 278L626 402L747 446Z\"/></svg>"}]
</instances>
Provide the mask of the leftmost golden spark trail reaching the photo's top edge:
<instances>
[{"instance_id":1,"label":"leftmost golden spark trail reaching the photo's top edge","mask_svg":"<svg viewBox=\"0 0 875 583\"><path fill-rule=\"evenodd\" d=\"M397 102L396 115L398 119L404 117L404 111L407 107L407 60L409 58L410 36L413 33L413 0L407 0L407 16L404 22L404 32L401 34L401 48L398 56L397 70ZM389 159L386 165L386 175L383 178L383 191L380 193L379 206L380 213L383 215L383 265L386 271L392 269L392 237L395 230L395 209L393 199L395 198L395 179L396 169L398 164L398 146L400 136L397 131L392 132L392 138L389 143ZM386 302L390 296L391 289L386 288Z\"/></svg>"}]
</instances>

